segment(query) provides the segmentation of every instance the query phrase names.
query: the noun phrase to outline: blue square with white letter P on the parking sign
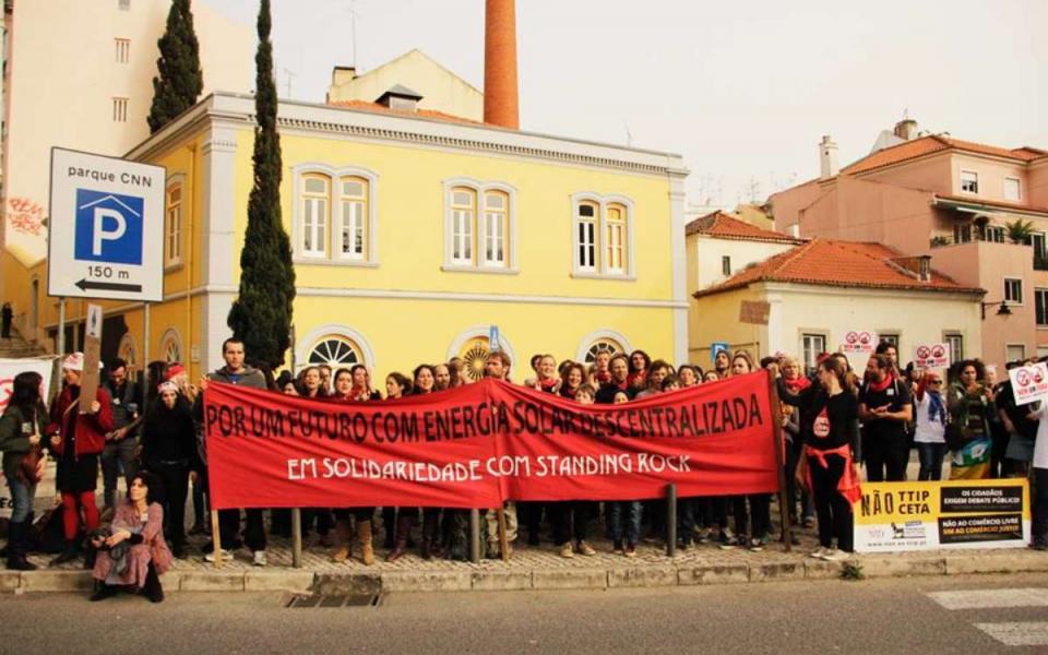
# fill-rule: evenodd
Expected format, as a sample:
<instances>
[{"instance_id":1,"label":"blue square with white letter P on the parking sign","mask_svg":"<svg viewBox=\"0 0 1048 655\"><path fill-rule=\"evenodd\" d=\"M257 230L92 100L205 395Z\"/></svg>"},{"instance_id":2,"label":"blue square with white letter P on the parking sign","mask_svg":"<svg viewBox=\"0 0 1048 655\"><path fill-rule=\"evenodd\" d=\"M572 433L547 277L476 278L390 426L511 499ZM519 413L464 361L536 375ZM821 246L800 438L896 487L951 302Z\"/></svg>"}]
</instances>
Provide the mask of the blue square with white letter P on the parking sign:
<instances>
[{"instance_id":1,"label":"blue square with white letter P on the parking sign","mask_svg":"<svg viewBox=\"0 0 1048 655\"><path fill-rule=\"evenodd\" d=\"M141 264L143 207L134 195L78 189L74 259Z\"/></svg>"}]
</instances>

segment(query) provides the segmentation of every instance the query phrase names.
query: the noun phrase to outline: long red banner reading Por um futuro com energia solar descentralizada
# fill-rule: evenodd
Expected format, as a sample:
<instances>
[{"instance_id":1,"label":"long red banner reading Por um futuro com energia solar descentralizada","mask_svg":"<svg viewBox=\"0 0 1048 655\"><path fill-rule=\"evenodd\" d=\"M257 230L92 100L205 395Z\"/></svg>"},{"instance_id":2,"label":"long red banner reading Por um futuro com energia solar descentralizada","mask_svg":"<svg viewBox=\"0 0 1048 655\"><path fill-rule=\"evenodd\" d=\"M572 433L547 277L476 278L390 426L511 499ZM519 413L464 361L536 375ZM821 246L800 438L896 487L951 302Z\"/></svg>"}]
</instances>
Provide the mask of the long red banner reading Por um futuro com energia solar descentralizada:
<instances>
[{"instance_id":1,"label":"long red banner reading Por um futuro com energia solar descentralizada","mask_svg":"<svg viewBox=\"0 0 1048 655\"><path fill-rule=\"evenodd\" d=\"M778 487L764 372L622 405L485 380L396 401L204 394L212 505L492 508ZM776 408L777 410L777 408Z\"/></svg>"}]
</instances>

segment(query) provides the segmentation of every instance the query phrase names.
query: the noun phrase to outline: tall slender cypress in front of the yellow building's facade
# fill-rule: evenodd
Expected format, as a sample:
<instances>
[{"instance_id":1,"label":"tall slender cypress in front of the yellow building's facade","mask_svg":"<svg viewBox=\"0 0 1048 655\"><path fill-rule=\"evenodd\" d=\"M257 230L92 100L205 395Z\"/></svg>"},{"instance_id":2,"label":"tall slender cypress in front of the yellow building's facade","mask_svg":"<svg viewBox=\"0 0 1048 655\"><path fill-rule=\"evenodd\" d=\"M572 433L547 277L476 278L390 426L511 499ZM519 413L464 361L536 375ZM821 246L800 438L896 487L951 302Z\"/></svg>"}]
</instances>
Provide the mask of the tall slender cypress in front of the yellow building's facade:
<instances>
[{"instance_id":1,"label":"tall slender cypress in front of the yellow building's facade","mask_svg":"<svg viewBox=\"0 0 1048 655\"><path fill-rule=\"evenodd\" d=\"M228 320L234 336L243 342L248 360L267 371L284 362L295 300L291 245L281 218L281 138L270 27L270 0L262 0L254 56L254 186L240 252L240 296Z\"/></svg>"}]
</instances>

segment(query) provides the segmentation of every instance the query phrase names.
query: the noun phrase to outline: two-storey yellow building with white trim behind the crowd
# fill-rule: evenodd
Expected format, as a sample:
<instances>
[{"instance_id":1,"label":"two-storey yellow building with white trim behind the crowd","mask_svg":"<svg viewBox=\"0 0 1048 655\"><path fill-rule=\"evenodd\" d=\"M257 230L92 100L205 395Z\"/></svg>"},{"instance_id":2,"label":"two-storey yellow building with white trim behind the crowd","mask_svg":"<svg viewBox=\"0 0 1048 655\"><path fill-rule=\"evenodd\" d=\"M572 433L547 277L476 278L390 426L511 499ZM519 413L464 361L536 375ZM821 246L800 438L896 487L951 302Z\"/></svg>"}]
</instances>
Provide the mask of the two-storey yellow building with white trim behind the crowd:
<instances>
[{"instance_id":1,"label":"two-storey yellow building with white trim behind the crowd","mask_svg":"<svg viewBox=\"0 0 1048 655\"><path fill-rule=\"evenodd\" d=\"M395 96L395 94L394 94ZM527 359L600 348L688 354L678 155L416 112L281 103L282 204L298 296L295 357L378 376L484 355L491 325ZM395 110L390 107L392 105ZM104 354L221 365L252 183L253 98L215 93L128 155L167 169L165 301L106 302ZM52 334L46 265L15 301ZM31 289L38 298L31 300ZM22 297L19 297L19 294ZM70 302L82 320L82 301Z\"/></svg>"}]
</instances>

